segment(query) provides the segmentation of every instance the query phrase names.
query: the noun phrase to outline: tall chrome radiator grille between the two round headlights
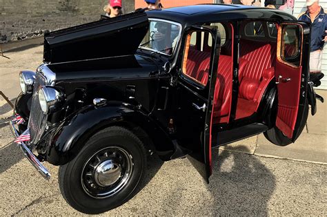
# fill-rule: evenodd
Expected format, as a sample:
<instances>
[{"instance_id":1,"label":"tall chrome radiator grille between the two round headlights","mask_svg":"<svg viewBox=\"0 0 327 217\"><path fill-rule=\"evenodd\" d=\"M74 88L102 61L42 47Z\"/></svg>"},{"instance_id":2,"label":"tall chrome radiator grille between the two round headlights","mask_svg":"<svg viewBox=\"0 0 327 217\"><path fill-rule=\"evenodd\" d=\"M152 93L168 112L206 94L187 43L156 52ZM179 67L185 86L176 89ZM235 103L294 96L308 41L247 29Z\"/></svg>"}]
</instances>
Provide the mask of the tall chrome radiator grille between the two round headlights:
<instances>
[{"instance_id":1,"label":"tall chrome radiator grille between the two round headlights","mask_svg":"<svg viewBox=\"0 0 327 217\"><path fill-rule=\"evenodd\" d=\"M28 121L28 126L30 127L30 138L33 144L36 144L41 135L46 130L46 117L39 104L39 87L46 85L46 78L41 75L40 72L37 72L35 77L33 95L32 95L32 104L30 108L30 119Z\"/></svg>"}]
</instances>

